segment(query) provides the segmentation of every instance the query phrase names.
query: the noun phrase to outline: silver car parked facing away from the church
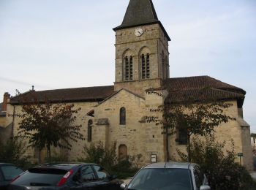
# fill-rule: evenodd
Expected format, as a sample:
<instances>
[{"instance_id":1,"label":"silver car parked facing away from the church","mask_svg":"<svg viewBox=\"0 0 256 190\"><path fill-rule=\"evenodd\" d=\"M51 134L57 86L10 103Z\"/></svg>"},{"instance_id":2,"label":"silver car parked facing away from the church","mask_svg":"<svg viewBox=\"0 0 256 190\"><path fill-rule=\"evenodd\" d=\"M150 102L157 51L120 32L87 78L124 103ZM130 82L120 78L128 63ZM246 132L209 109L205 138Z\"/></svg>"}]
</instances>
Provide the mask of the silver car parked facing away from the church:
<instances>
[{"instance_id":1,"label":"silver car parked facing away from the church","mask_svg":"<svg viewBox=\"0 0 256 190\"><path fill-rule=\"evenodd\" d=\"M121 184L126 190L209 190L206 176L197 164L162 162L140 169L129 184Z\"/></svg>"}]
</instances>

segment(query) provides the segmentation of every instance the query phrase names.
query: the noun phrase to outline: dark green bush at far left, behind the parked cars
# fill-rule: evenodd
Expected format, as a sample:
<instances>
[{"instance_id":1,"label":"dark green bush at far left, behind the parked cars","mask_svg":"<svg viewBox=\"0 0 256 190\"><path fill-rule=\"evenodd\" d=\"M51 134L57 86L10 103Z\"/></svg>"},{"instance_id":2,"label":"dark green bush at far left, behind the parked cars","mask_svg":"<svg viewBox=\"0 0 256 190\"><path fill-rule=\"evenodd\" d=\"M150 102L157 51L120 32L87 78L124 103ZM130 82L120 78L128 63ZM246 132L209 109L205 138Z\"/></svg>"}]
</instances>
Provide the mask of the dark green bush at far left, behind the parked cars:
<instances>
[{"instance_id":1,"label":"dark green bush at far left, behind the parked cars","mask_svg":"<svg viewBox=\"0 0 256 190\"><path fill-rule=\"evenodd\" d=\"M23 169L31 166L26 156L26 143L18 139L10 139L0 143L0 162L12 163Z\"/></svg>"}]
</instances>

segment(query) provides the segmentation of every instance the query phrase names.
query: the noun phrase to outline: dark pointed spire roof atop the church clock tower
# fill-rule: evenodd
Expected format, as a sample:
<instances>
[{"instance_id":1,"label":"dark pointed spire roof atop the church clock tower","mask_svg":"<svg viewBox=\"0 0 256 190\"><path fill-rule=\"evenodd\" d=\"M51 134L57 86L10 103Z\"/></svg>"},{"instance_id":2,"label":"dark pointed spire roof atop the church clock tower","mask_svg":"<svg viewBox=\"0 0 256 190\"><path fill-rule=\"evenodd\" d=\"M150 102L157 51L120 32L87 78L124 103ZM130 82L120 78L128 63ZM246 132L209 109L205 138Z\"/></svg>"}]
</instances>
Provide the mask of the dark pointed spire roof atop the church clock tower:
<instances>
[{"instance_id":1,"label":"dark pointed spire roof atop the church clock tower","mask_svg":"<svg viewBox=\"0 0 256 190\"><path fill-rule=\"evenodd\" d=\"M120 26L113 28L113 30L117 31L122 28L149 25L153 23L159 23L162 30L165 32L167 39L170 40L165 28L157 18L157 12L154 9L153 2L151 0L130 0L123 22Z\"/></svg>"}]
</instances>

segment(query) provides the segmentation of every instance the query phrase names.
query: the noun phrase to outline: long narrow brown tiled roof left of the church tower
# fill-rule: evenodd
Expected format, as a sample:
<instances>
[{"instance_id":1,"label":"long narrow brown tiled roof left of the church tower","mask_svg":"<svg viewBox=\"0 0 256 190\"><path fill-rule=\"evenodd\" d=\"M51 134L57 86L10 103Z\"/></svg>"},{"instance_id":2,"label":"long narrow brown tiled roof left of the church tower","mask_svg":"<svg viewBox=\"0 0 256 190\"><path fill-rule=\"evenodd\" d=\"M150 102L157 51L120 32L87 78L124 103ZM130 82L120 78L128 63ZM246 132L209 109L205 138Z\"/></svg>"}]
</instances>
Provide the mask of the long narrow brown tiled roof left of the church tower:
<instances>
[{"instance_id":1,"label":"long narrow brown tiled roof left of the church tower","mask_svg":"<svg viewBox=\"0 0 256 190\"><path fill-rule=\"evenodd\" d=\"M15 96L11 104L18 104L20 100L31 102L48 99L50 102L99 102L114 93L114 86L97 86L86 88L66 88L49 91L29 91Z\"/></svg>"}]
</instances>

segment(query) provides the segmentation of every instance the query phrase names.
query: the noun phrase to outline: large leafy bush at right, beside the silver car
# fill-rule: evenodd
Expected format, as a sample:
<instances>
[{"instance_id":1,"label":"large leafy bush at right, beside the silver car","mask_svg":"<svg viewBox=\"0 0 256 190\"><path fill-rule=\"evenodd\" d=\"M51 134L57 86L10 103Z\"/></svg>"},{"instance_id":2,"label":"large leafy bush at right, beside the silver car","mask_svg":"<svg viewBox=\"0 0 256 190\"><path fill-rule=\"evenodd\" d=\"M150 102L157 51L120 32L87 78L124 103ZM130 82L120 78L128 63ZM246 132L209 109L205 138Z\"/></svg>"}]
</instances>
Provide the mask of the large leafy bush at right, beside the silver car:
<instances>
[{"instance_id":1,"label":"large leafy bush at right, beside the silver car","mask_svg":"<svg viewBox=\"0 0 256 190\"><path fill-rule=\"evenodd\" d=\"M192 139L191 159L200 164L206 173L211 189L216 190L246 190L256 189L256 183L249 172L236 163L234 142L231 140L230 151L223 151L226 142L216 142L214 135L207 136L206 140ZM181 161L187 161L187 154L178 151Z\"/></svg>"}]
</instances>

